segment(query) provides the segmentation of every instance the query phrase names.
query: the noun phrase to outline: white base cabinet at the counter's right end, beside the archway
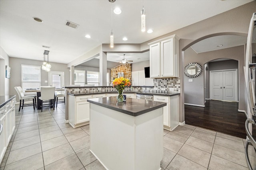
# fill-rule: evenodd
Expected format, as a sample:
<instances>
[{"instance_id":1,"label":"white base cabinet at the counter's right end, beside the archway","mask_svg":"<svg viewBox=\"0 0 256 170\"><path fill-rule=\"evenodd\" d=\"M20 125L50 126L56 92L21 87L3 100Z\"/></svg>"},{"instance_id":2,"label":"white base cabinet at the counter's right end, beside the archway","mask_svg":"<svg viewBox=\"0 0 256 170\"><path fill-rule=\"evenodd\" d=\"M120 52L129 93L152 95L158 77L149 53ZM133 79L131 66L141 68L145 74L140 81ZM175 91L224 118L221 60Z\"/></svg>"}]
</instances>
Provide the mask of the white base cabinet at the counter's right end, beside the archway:
<instances>
[{"instance_id":1,"label":"white base cabinet at the counter's right end, beside the archway","mask_svg":"<svg viewBox=\"0 0 256 170\"><path fill-rule=\"evenodd\" d=\"M179 96L156 96L154 101L165 102L166 106L163 107L163 123L164 129L172 131L179 125Z\"/></svg>"}]
</instances>

